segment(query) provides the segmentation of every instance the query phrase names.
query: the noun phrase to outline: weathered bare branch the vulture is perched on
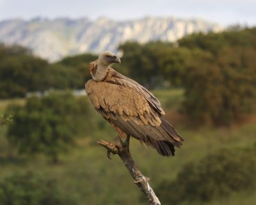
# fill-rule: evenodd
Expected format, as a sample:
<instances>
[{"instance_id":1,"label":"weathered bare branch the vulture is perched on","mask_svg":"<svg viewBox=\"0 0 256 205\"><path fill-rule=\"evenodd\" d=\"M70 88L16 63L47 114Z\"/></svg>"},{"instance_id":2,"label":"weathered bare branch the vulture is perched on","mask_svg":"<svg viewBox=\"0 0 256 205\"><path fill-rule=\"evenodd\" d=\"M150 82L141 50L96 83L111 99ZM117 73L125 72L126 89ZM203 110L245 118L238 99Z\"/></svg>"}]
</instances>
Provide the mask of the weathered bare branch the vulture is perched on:
<instances>
[{"instance_id":1,"label":"weathered bare branch the vulture is perched on","mask_svg":"<svg viewBox=\"0 0 256 205\"><path fill-rule=\"evenodd\" d=\"M116 137L114 142L108 143L104 140L99 140L98 144L100 146L104 146L104 148L108 149L108 158L110 158L110 153L118 154L122 161L125 164L125 167L130 172L132 178L134 179L134 183L140 188L141 192L147 198L149 205L161 205L159 199L157 198L154 190L150 187L148 181L149 178L143 176L141 174L140 169L132 159L130 150L129 150L129 136L127 136L127 140L123 142L119 136Z\"/></svg>"}]
</instances>

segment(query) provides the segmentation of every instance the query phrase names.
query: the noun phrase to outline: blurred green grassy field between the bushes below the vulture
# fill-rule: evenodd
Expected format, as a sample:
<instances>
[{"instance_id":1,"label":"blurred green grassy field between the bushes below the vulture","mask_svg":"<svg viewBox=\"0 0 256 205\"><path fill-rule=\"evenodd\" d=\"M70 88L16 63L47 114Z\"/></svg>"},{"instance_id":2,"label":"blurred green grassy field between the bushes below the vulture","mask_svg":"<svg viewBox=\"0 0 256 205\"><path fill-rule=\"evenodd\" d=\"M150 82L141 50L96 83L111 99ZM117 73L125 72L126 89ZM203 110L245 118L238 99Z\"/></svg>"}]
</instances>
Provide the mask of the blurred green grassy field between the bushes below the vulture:
<instances>
[{"instance_id":1,"label":"blurred green grassy field between the bushes below the vulture","mask_svg":"<svg viewBox=\"0 0 256 205\"><path fill-rule=\"evenodd\" d=\"M143 174L151 178L150 184L153 188L163 180L174 179L188 162L196 162L222 148L248 148L256 142L256 126L253 122L230 128L202 127L193 130L182 123L182 118L175 123L179 116L177 110L182 101L182 93L179 89L154 92L167 111L168 119L185 139L184 146L176 149L175 157L159 156L155 150L146 149L137 140L131 140L132 156ZM22 104L24 100L1 100L0 113L13 102ZM100 118L97 112L95 115ZM8 145L5 135L6 126L3 126L0 128L0 180L15 172L32 171L45 178L56 179L62 193L72 195L79 205L147 204L141 199L140 190L134 185L118 156L108 160L106 150L97 145L97 140L111 140L116 135L107 123L103 130L93 133L92 136L79 138L76 148L60 156L61 162L58 165L52 165L45 156L25 157L17 154ZM256 192L252 190L250 193L232 194L225 199L209 202L208 205L255 204L254 191Z\"/></svg>"}]
</instances>

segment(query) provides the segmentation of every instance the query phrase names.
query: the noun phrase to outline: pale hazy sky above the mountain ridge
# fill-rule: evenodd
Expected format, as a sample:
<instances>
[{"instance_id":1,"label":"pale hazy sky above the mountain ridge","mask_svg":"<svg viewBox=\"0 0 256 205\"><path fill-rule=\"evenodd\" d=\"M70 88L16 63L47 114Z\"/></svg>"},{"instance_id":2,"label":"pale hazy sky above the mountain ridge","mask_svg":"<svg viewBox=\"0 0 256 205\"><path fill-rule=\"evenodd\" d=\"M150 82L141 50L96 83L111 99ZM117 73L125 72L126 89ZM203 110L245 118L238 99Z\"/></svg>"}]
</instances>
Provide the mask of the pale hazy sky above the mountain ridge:
<instances>
[{"instance_id":1,"label":"pale hazy sky above the mountain ridge","mask_svg":"<svg viewBox=\"0 0 256 205\"><path fill-rule=\"evenodd\" d=\"M223 26L256 26L256 0L0 0L0 20L33 17L105 16L114 20L146 15L198 17Z\"/></svg>"}]
</instances>

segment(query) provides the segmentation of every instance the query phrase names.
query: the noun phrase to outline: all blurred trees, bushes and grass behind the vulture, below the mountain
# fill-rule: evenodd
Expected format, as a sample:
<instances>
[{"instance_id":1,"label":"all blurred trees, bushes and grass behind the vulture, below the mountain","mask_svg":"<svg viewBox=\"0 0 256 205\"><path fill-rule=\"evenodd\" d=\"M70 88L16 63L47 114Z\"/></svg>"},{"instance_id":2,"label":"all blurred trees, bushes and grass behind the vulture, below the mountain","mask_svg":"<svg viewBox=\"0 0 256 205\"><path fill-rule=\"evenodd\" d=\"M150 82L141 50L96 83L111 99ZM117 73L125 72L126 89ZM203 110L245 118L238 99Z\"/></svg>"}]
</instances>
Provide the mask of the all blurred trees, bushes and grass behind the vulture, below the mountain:
<instances>
[{"instance_id":1,"label":"all blurred trees, bushes and grass behind the vulture, below the mountain","mask_svg":"<svg viewBox=\"0 0 256 205\"><path fill-rule=\"evenodd\" d=\"M256 28L126 42L118 72L152 90L185 139L173 158L131 152L163 204L255 204ZM83 89L93 54L48 63L0 45L0 204L146 204L118 157L116 133Z\"/></svg>"}]
</instances>

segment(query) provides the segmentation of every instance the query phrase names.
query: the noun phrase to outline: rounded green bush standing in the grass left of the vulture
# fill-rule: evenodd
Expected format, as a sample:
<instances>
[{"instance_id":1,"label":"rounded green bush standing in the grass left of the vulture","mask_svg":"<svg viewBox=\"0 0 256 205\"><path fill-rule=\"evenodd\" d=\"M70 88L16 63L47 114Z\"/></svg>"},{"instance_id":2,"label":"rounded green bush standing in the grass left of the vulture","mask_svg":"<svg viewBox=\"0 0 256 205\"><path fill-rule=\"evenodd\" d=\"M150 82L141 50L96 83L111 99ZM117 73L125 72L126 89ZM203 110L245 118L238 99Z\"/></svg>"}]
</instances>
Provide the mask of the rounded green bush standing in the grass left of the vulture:
<instances>
[{"instance_id":1,"label":"rounded green bush standing in the grass left of the vulture","mask_svg":"<svg viewBox=\"0 0 256 205\"><path fill-rule=\"evenodd\" d=\"M12 106L13 123L8 140L20 153L45 153L57 162L58 154L74 146L75 137L93 128L85 97L49 93L28 99L24 107Z\"/></svg>"}]
</instances>

